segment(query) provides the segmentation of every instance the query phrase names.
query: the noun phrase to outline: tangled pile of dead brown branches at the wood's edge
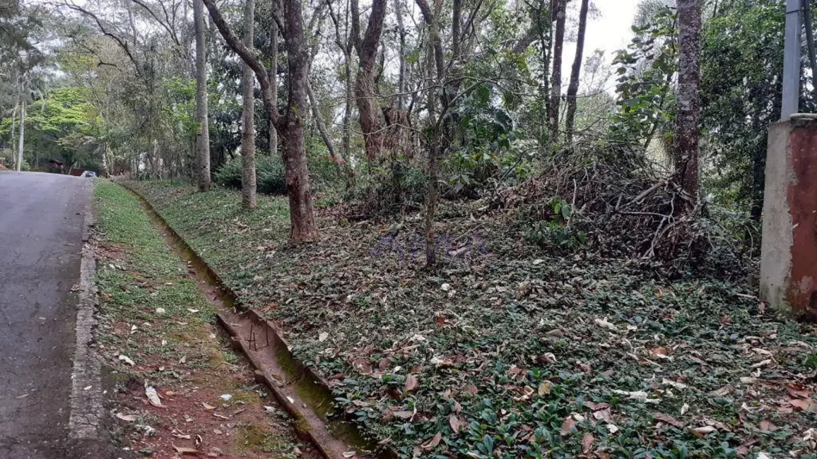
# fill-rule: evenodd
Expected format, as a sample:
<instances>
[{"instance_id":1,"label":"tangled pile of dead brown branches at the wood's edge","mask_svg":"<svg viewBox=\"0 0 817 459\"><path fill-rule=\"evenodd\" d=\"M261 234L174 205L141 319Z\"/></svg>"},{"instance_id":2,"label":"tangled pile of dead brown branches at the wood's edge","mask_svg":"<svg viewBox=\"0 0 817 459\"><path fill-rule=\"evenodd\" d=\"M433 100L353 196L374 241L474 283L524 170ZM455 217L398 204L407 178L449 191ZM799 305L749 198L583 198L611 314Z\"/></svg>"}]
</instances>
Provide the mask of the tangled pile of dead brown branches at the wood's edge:
<instances>
[{"instance_id":1,"label":"tangled pile of dead brown branches at the wood's edge","mask_svg":"<svg viewBox=\"0 0 817 459\"><path fill-rule=\"evenodd\" d=\"M728 277L745 272L742 249L733 235L643 155L626 150L560 152L549 158L539 176L500 191L494 205L517 207L527 221L552 221L558 220L551 205L554 198L572 210L561 223L583 232L587 247L601 256L658 261Z\"/></svg>"}]
</instances>

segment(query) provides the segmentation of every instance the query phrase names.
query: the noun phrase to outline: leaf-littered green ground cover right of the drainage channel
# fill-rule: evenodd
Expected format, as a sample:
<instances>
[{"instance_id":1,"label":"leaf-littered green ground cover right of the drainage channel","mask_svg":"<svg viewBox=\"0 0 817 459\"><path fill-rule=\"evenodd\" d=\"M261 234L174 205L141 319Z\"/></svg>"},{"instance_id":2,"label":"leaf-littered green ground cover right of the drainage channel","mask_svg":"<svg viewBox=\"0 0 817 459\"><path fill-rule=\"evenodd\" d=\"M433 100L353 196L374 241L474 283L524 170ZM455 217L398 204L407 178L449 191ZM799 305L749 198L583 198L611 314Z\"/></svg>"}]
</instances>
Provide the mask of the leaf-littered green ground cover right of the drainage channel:
<instances>
[{"instance_id":1,"label":"leaf-littered green ground cover right of the drainage channel","mask_svg":"<svg viewBox=\"0 0 817 459\"><path fill-rule=\"evenodd\" d=\"M133 185L401 456L815 457L815 328L744 286L547 256L478 203L444 206L428 272L419 216L289 247L281 198Z\"/></svg>"}]
</instances>

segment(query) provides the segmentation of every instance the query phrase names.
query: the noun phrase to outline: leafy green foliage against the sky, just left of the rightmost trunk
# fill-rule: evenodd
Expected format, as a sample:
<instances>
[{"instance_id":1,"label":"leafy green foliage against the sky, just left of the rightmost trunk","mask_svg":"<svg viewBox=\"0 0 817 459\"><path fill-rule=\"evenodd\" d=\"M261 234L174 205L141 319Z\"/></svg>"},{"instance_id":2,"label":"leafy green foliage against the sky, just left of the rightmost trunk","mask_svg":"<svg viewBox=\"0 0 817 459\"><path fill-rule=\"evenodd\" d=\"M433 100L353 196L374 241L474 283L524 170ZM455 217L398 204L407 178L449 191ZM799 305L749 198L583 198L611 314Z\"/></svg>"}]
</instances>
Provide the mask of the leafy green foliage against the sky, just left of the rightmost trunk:
<instances>
[{"instance_id":1,"label":"leafy green foliage against the sky, just left of the rightmost trunk","mask_svg":"<svg viewBox=\"0 0 817 459\"><path fill-rule=\"evenodd\" d=\"M670 83L678 65L675 12L661 7L649 24L634 25L632 30L636 36L613 61L618 65L619 111L610 133L614 140L646 147L673 119L667 108L672 105Z\"/></svg>"}]
</instances>

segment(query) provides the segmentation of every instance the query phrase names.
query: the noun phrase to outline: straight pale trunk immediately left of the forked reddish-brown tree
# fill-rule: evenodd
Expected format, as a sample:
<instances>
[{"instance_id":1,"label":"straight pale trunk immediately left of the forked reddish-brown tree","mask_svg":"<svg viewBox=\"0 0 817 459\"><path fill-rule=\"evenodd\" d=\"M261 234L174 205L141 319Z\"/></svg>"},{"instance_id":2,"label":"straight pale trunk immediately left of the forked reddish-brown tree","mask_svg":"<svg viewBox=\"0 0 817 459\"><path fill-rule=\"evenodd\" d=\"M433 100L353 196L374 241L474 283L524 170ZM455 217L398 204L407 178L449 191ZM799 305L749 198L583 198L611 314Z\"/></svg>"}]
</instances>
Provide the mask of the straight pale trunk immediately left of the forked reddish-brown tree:
<instances>
[{"instance_id":1,"label":"straight pale trunk immediately left of the forked reddish-brown tree","mask_svg":"<svg viewBox=\"0 0 817 459\"><path fill-rule=\"evenodd\" d=\"M252 29L255 26L255 0L244 2L244 46L252 50ZM255 165L255 73L244 64L243 115L241 131L241 203L256 207Z\"/></svg>"}]
</instances>

